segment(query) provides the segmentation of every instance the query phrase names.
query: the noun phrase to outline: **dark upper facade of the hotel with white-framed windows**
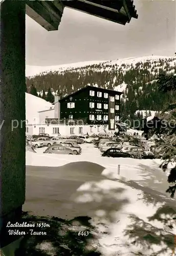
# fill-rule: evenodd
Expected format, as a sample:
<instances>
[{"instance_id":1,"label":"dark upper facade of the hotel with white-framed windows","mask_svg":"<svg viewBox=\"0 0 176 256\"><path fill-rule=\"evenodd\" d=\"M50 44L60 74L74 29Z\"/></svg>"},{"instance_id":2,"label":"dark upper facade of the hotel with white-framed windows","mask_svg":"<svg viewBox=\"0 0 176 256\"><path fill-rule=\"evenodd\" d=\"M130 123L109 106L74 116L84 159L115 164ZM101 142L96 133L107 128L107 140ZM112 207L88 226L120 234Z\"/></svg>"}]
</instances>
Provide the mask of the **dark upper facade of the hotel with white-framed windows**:
<instances>
[{"instance_id":1,"label":"dark upper facade of the hotel with white-framed windows","mask_svg":"<svg viewBox=\"0 0 176 256\"><path fill-rule=\"evenodd\" d=\"M80 120L89 125L108 125L115 129L120 119L121 92L103 88L86 86L62 99L60 102L60 118Z\"/></svg>"}]
</instances>

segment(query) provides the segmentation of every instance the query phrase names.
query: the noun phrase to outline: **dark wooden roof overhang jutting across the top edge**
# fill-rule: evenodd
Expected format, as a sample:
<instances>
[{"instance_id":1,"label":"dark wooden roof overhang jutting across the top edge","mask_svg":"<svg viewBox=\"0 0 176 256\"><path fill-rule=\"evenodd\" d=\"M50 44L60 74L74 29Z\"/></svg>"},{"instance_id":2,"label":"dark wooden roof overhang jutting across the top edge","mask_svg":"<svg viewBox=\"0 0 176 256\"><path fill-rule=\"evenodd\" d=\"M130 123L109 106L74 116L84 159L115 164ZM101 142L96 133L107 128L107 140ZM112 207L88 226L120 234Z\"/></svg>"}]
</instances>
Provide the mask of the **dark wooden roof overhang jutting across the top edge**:
<instances>
[{"instance_id":1,"label":"dark wooden roof overhang jutting across the top edge","mask_svg":"<svg viewBox=\"0 0 176 256\"><path fill-rule=\"evenodd\" d=\"M133 0L26 1L26 14L48 31L58 30L64 7L125 25L138 18Z\"/></svg>"}]
</instances>

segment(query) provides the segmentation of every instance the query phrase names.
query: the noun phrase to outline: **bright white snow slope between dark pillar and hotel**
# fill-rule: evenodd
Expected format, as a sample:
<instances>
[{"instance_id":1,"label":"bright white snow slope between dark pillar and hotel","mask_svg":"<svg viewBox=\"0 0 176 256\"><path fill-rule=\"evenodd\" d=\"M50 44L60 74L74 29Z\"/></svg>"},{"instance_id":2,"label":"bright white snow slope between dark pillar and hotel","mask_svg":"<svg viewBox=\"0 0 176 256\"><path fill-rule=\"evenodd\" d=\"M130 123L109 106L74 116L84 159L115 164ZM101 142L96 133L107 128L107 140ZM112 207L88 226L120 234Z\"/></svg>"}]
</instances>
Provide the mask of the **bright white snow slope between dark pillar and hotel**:
<instances>
[{"instance_id":1,"label":"bright white snow slope between dark pillar and hotel","mask_svg":"<svg viewBox=\"0 0 176 256\"><path fill-rule=\"evenodd\" d=\"M50 108L53 108L50 102L26 93L26 120L28 120L29 124L38 123L38 111L48 110Z\"/></svg>"}]
</instances>

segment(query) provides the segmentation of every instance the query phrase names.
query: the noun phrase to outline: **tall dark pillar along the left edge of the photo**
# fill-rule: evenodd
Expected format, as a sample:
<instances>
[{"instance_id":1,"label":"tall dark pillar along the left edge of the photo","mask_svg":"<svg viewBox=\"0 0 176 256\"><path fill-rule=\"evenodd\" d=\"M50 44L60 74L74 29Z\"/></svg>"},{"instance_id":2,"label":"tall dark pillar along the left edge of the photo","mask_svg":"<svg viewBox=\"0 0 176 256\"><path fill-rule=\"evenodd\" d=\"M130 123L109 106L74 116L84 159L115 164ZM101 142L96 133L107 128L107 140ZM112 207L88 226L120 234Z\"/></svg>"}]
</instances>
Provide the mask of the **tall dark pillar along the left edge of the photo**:
<instances>
[{"instance_id":1,"label":"tall dark pillar along the left edge of the photo","mask_svg":"<svg viewBox=\"0 0 176 256\"><path fill-rule=\"evenodd\" d=\"M25 202L25 12L25 1L1 3L1 243Z\"/></svg>"}]
</instances>

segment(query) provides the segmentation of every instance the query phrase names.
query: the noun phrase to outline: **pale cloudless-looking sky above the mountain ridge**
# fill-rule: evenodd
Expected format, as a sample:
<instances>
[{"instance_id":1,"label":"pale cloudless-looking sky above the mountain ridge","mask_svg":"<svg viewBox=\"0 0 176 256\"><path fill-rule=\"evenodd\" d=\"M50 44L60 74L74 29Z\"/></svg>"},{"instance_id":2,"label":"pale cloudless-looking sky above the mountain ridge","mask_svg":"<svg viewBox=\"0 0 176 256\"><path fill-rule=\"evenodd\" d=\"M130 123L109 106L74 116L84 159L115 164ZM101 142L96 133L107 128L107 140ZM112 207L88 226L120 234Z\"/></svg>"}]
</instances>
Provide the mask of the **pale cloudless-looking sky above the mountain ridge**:
<instances>
[{"instance_id":1,"label":"pale cloudless-looking sky above the mountain ridge","mask_svg":"<svg viewBox=\"0 0 176 256\"><path fill-rule=\"evenodd\" d=\"M139 17L125 26L65 8L58 31L48 32L26 15L26 64L174 56L176 1L134 0L134 4Z\"/></svg>"}]
</instances>

